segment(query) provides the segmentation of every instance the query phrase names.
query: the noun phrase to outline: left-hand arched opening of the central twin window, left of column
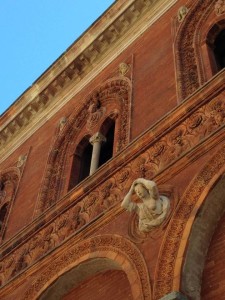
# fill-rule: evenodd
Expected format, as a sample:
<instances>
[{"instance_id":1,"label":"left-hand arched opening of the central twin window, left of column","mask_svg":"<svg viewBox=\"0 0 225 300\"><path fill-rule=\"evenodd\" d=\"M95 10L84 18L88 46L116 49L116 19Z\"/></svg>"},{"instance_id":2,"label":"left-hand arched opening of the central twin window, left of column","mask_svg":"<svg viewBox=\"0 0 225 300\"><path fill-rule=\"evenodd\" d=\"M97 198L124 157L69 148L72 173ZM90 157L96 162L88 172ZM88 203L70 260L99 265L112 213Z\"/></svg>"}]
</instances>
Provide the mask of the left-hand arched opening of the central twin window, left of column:
<instances>
[{"instance_id":1,"label":"left-hand arched opening of the central twin window, left of column","mask_svg":"<svg viewBox=\"0 0 225 300\"><path fill-rule=\"evenodd\" d=\"M73 155L69 190L89 176L91 157L92 145L89 143L89 137L85 136L78 144Z\"/></svg>"}]
</instances>

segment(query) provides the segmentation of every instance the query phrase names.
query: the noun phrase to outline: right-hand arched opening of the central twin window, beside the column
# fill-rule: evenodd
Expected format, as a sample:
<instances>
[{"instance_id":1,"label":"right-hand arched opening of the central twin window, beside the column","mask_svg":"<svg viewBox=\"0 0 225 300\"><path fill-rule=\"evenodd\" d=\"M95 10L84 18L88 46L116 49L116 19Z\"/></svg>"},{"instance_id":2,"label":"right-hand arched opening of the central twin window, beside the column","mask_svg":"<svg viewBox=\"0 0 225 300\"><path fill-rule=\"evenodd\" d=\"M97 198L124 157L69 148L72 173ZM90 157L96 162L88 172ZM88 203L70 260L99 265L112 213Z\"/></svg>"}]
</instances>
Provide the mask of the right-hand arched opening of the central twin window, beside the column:
<instances>
[{"instance_id":1,"label":"right-hand arched opening of the central twin window, beside the column","mask_svg":"<svg viewBox=\"0 0 225 300\"><path fill-rule=\"evenodd\" d=\"M106 142L101 146L99 167L113 157L115 120L107 118L101 127L101 133L106 137Z\"/></svg>"}]
</instances>

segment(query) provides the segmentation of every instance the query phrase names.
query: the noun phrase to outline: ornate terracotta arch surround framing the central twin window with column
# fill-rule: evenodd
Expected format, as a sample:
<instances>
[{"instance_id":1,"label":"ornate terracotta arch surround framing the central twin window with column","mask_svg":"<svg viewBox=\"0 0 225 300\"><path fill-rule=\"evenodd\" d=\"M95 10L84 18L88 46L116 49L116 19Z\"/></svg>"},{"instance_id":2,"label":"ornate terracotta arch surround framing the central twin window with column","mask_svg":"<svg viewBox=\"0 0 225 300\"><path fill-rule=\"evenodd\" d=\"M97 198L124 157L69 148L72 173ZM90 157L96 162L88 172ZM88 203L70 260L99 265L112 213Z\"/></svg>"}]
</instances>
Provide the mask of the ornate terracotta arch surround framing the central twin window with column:
<instances>
[{"instance_id":1,"label":"ornate terracotta arch surround framing the central twin window with column","mask_svg":"<svg viewBox=\"0 0 225 300\"><path fill-rule=\"evenodd\" d=\"M112 118L114 114L119 112L117 115L118 136L116 152L127 146L130 139L131 93L132 83L130 79L114 77L98 86L86 99L81 100L81 104L69 116L62 130L58 130L56 133L49 153L34 217L54 205L63 192L67 192L66 180L62 180L62 177L67 178L65 173L68 173L69 176L70 154L74 152L74 147L81 140L82 136L91 134L93 129L95 132L98 131L98 125L103 119L104 110L101 112L101 108L106 110L106 116L111 113L109 116ZM100 115L102 113L102 116L98 117L95 115L94 110L94 121L90 122L89 110L95 102L101 104L99 113ZM74 143L71 143L71 141L74 141Z\"/></svg>"}]
</instances>

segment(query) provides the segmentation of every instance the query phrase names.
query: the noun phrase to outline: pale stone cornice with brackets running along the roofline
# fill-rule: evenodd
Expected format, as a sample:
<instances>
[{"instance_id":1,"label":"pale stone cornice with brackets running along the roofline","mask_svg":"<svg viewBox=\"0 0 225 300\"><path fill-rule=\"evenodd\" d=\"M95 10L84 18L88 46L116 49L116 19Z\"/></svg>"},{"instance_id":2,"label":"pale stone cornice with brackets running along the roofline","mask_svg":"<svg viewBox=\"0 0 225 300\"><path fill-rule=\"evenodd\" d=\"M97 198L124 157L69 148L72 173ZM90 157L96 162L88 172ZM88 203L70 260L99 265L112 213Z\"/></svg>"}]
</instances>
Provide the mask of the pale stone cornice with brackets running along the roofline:
<instances>
[{"instance_id":1,"label":"pale stone cornice with brackets running along the roofline","mask_svg":"<svg viewBox=\"0 0 225 300\"><path fill-rule=\"evenodd\" d=\"M82 90L176 1L117 1L2 115L0 162Z\"/></svg>"}]
</instances>

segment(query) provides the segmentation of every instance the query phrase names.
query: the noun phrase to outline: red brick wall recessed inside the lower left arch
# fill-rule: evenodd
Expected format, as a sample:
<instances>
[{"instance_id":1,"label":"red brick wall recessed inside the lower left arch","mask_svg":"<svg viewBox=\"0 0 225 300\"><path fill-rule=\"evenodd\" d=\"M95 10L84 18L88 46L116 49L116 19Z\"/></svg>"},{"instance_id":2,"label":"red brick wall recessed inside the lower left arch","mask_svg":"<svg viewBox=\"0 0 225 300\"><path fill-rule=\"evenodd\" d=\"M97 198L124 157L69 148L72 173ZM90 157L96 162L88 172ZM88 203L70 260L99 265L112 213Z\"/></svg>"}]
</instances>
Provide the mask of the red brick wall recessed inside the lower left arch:
<instances>
[{"instance_id":1,"label":"red brick wall recessed inside the lower left arch","mask_svg":"<svg viewBox=\"0 0 225 300\"><path fill-rule=\"evenodd\" d=\"M63 297L63 300L72 299L131 300L133 298L126 274L120 270L109 270L85 280Z\"/></svg>"}]
</instances>

